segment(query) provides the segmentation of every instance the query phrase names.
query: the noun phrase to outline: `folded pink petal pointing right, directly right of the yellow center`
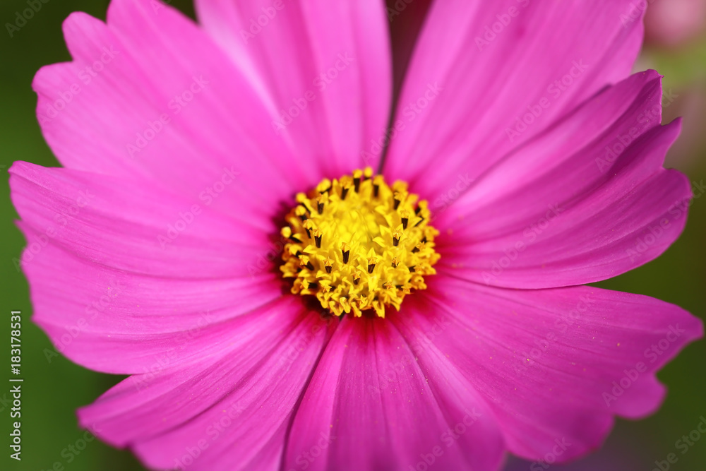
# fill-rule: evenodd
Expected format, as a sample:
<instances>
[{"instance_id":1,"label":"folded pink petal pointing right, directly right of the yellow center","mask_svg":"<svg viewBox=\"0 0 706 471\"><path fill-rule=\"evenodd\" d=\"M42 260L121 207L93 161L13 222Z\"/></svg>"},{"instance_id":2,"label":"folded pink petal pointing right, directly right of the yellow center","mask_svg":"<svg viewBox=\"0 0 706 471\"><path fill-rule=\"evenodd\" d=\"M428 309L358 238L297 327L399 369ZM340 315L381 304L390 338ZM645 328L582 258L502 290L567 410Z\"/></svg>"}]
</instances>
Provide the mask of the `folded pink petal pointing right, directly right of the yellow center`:
<instances>
[{"instance_id":1,"label":"folded pink petal pointing right, directly right of the yellow center","mask_svg":"<svg viewBox=\"0 0 706 471\"><path fill-rule=\"evenodd\" d=\"M662 254L684 227L691 191L662 168L680 123L659 126L661 97L657 73L635 74L457 201L436 201L441 265L488 285L541 288L604 280Z\"/></svg>"}]
</instances>

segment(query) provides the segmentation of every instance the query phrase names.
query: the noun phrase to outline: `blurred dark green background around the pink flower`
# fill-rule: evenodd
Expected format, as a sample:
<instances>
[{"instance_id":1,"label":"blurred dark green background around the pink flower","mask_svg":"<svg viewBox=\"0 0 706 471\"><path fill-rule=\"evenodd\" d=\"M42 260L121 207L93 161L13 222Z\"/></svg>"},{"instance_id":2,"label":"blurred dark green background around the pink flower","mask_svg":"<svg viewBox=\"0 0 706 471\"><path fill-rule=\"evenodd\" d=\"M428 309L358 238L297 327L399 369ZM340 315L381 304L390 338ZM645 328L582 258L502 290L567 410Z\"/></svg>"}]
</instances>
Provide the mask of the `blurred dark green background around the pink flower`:
<instances>
[{"instance_id":1,"label":"blurred dark green background around the pink flower","mask_svg":"<svg viewBox=\"0 0 706 471\"><path fill-rule=\"evenodd\" d=\"M332 0L335 1L335 0ZM390 30L395 49L395 83L403 76L414 38L429 0L388 1L391 8L400 1L405 8L392 16ZM46 2L46 3L44 3ZM105 18L109 0L42 0L40 11L12 37L6 23L14 23L16 12L28 7L26 0L0 2L0 364L9 362L10 311L23 315L23 451L20 463L9 458L11 431L9 386L0 386L0 470L142 470L128 451L119 451L97 440L81 443L84 431L76 425L75 410L95 400L121 380L98 374L69 362L64 357L45 356L51 345L46 335L32 324L28 285L16 269L13 258L20 256L25 241L14 225L17 214L8 189L7 169L15 160L57 166L44 143L35 118L37 98L32 77L45 64L69 61L61 36L61 22L72 11L85 11ZM193 17L191 0L167 1ZM684 130L666 160L695 184L706 180L706 0L650 0L647 13L647 41L636 70L656 68L664 75L666 100L664 122L684 117ZM647 294L683 306L706 319L706 194L693 201L688 224L681 239L662 257L638 270L599 283L613 290ZM3 356L6 355L6 356ZM7 365L9 370L9 365ZM0 384L10 376L0 374ZM706 342L687 347L659 374L669 386L669 395L659 412L645 420L618 420L603 448L570 465L552 465L556 470L629 471L658 469L655 460L676 453L671 470L706 470L706 434L681 454L675 442L695 429L706 417ZM8 384L8 383L6 383ZM85 445L85 447L84 447ZM71 448L73 446L73 448ZM83 449L80 449L83 448ZM507 470L544 470L510 458Z\"/></svg>"}]
</instances>

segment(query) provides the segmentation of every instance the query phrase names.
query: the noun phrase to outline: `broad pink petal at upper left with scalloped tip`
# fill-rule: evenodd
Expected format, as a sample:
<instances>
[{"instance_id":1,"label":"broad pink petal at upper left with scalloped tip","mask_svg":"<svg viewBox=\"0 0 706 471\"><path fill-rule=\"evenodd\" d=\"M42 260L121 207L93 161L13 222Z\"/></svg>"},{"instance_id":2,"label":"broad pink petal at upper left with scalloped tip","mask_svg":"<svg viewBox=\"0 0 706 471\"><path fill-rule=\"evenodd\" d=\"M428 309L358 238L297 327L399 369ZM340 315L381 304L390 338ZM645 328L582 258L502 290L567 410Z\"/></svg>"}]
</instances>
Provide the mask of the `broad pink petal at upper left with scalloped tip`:
<instances>
[{"instance_id":1,"label":"broad pink petal at upper left with scalloped tip","mask_svg":"<svg viewBox=\"0 0 706 471\"><path fill-rule=\"evenodd\" d=\"M273 138L276 110L261 85L174 8L114 0L107 25L73 13L64 35L73 62L42 68L33 86L42 132L65 167L212 198L268 222L323 176L311 155ZM237 184L222 185L224 169Z\"/></svg>"}]
</instances>

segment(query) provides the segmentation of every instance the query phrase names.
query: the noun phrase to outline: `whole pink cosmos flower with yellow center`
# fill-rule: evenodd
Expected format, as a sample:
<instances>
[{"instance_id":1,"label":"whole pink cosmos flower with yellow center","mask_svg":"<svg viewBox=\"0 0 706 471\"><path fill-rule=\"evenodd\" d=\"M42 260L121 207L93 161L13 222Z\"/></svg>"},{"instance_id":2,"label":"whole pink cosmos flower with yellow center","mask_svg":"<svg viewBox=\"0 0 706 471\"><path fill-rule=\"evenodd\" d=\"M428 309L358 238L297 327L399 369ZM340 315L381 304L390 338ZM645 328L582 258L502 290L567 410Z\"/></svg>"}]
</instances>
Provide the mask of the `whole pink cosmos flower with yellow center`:
<instances>
[{"instance_id":1,"label":"whole pink cosmos flower with yellow center","mask_svg":"<svg viewBox=\"0 0 706 471\"><path fill-rule=\"evenodd\" d=\"M702 324L582 286L691 195L628 0L436 1L395 109L381 1L196 7L75 13L35 78L64 168L11 169L34 319L131 375L83 427L154 469L496 470L657 410Z\"/></svg>"}]
</instances>

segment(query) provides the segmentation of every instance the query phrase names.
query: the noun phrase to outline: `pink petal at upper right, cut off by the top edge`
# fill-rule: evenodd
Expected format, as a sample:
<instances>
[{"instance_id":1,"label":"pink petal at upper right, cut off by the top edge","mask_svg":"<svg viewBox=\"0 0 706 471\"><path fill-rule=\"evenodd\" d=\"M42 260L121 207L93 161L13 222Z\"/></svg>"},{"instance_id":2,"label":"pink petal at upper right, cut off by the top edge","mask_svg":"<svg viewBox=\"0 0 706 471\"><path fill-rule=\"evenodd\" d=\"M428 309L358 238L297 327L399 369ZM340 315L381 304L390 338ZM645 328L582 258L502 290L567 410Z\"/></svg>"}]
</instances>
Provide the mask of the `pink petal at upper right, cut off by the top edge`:
<instances>
[{"instance_id":1,"label":"pink petal at upper right, cut off by the top edge","mask_svg":"<svg viewBox=\"0 0 706 471\"><path fill-rule=\"evenodd\" d=\"M642 22L621 21L629 8L630 0L434 2L397 107L393 126L404 129L385 174L437 198L460 175L478 177L626 78L642 43ZM506 130L544 100L532 125L509 138Z\"/></svg>"}]
</instances>

